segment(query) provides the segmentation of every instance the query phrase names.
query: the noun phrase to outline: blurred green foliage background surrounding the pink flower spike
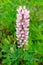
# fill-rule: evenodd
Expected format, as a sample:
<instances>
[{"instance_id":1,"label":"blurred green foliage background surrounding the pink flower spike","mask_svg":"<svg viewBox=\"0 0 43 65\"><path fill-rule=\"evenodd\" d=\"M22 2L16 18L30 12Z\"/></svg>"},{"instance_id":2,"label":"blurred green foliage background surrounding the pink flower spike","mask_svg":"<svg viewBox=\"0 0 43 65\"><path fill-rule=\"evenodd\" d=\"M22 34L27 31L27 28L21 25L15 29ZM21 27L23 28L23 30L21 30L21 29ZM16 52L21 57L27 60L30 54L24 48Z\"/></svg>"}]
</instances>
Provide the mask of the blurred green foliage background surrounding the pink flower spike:
<instances>
[{"instance_id":1,"label":"blurred green foliage background surrounding the pink flower spike","mask_svg":"<svg viewBox=\"0 0 43 65\"><path fill-rule=\"evenodd\" d=\"M16 14L30 10L28 46L17 48ZM0 65L43 65L43 0L0 0Z\"/></svg>"}]
</instances>

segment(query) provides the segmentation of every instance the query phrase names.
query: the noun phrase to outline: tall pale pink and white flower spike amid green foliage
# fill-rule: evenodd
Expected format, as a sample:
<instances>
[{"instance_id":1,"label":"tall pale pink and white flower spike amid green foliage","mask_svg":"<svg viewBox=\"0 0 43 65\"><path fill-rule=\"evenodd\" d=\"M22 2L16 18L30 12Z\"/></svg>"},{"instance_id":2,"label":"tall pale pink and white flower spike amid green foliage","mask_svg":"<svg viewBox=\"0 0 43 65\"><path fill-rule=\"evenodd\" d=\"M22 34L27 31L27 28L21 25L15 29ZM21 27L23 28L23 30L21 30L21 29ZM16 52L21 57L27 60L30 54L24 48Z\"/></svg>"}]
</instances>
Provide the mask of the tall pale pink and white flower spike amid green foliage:
<instances>
[{"instance_id":1,"label":"tall pale pink and white flower spike amid green foliage","mask_svg":"<svg viewBox=\"0 0 43 65\"><path fill-rule=\"evenodd\" d=\"M19 41L20 47L25 45L28 40L28 26L29 26L29 11L26 9L26 7L20 6L17 9L17 20L16 20L16 35L17 40Z\"/></svg>"}]
</instances>

